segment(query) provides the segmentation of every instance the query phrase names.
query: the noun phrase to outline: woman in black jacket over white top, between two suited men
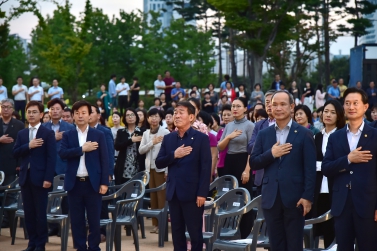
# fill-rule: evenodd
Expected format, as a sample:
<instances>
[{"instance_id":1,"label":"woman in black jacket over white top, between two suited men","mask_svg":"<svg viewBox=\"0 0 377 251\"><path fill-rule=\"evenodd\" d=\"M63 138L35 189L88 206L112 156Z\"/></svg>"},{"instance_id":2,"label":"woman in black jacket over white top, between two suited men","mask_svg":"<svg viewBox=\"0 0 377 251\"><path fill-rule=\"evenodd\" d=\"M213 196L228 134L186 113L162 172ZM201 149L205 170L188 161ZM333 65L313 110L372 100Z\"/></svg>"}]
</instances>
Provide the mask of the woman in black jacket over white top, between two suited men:
<instances>
[{"instance_id":1,"label":"woman in black jacket over white top, between two suited men","mask_svg":"<svg viewBox=\"0 0 377 251\"><path fill-rule=\"evenodd\" d=\"M325 103L321 118L325 128L315 135L314 140L317 149L317 176L313 206L309 218L319 217L331 208L332 182L323 176L321 165L330 135L336 130L342 129L346 124L344 109L337 100L329 100ZM313 228L314 236L323 236L325 248L330 246L335 238L334 222L332 219L315 224Z\"/></svg>"}]
</instances>

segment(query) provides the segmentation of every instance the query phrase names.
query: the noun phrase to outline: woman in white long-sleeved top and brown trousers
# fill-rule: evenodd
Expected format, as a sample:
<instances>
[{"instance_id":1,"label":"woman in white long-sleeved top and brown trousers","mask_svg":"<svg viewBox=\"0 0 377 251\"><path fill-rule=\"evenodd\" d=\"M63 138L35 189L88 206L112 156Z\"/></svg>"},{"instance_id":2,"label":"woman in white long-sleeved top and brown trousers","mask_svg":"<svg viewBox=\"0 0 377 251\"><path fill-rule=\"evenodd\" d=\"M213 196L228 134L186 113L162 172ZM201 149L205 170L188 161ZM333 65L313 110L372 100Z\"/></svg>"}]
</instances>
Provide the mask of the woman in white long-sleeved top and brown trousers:
<instances>
[{"instance_id":1,"label":"woman in white long-sleeved top and brown trousers","mask_svg":"<svg viewBox=\"0 0 377 251\"><path fill-rule=\"evenodd\" d=\"M161 148L162 139L169 130L162 127L163 113L156 108L148 111L147 120L150 129L143 133L143 138L139 146L139 153L146 154L145 170L150 174L149 188L156 188L165 182L165 169L156 169L155 160ZM165 206L166 191L151 193L151 208L162 209ZM158 233L158 221L152 218L154 228L151 233Z\"/></svg>"}]
</instances>

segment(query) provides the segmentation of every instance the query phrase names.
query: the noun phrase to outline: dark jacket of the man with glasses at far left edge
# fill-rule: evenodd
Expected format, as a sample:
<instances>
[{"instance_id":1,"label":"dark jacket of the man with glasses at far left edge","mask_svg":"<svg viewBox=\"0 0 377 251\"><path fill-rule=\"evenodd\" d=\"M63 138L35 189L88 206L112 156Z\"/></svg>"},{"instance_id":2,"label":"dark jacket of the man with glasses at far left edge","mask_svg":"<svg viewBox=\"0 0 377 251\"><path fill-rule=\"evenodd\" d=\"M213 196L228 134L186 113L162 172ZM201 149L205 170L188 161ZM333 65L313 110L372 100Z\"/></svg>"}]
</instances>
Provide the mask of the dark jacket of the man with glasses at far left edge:
<instances>
[{"instance_id":1,"label":"dark jacket of the man with glasses at far left edge","mask_svg":"<svg viewBox=\"0 0 377 251\"><path fill-rule=\"evenodd\" d=\"M7 130L4 132L3 120L0 118L0 137L8 134L8 137L11 137L14 140L9 144L0 143L0 163L2 163L0 170L3 171L5 175L15 175L16 167L19 167L21 164L20 159L17 159L13 156L13 147L16 143L17 134L22 129L25 129L24 123L12 118L9 121Z\"/></svg>"}]
</instances>

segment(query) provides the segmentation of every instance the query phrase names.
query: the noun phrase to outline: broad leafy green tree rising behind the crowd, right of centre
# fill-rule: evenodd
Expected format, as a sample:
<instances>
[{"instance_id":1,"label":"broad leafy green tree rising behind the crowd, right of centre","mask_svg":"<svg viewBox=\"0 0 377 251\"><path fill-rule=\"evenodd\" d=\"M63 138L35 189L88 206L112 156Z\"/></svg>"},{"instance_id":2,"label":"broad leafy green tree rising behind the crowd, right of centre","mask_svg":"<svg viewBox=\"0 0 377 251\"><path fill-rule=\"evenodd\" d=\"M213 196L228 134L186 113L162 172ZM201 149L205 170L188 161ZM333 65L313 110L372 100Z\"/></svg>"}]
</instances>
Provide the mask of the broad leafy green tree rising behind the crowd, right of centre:
<instances>
[{"instance_id":1,"label":"broad leafy green tree rising behind the crowd, right of centre","mask_svg":"<svg viewBox=\"0 0 377 251\"><path fill-rule=\"evenodd\" d=\"M251 54L249 55L252 64L250 69L253 69L253 72L249 72L251 86L262 83L262 67L267 51L274 42L287 40L287 31L296 24L295 18L289 13L303 1L208 0L208 2L224 14L227 26L239 31L240 39L237 44Z\"/></svg>"}]
</instances>

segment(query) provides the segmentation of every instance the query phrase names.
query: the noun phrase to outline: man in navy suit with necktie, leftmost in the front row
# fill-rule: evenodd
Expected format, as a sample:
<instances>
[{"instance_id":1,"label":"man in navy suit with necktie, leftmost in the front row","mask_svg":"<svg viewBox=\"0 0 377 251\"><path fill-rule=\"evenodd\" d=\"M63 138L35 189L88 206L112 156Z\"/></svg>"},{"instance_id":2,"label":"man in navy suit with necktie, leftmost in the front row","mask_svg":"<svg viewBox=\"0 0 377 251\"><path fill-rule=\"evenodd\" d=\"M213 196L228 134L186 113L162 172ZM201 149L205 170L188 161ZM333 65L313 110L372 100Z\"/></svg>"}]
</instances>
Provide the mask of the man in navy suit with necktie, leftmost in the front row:
<instances>
[{"instance_id":1,"label":"man in navy suit with necktie, leftmost in the front row","mask_svg":"<svg viewBox=\"0 0 377 251\"><path fill-rule=\"evenodd\" d=\"M47 242L47 193L51 191L56 164L54 132L41 126L44 107L40 102L26 105L29 128L18 132L13 148L21 158L21 194L29 243L25 251L44 251Z\"/></svg>"}]
</instances>

